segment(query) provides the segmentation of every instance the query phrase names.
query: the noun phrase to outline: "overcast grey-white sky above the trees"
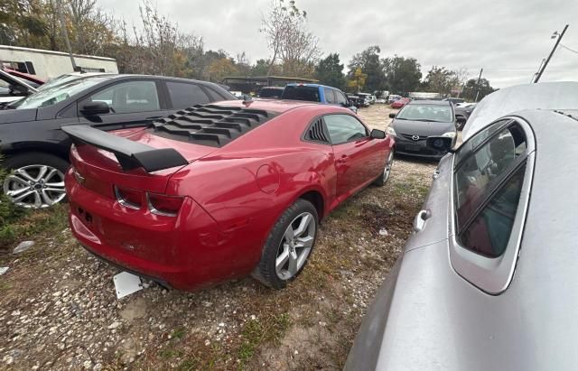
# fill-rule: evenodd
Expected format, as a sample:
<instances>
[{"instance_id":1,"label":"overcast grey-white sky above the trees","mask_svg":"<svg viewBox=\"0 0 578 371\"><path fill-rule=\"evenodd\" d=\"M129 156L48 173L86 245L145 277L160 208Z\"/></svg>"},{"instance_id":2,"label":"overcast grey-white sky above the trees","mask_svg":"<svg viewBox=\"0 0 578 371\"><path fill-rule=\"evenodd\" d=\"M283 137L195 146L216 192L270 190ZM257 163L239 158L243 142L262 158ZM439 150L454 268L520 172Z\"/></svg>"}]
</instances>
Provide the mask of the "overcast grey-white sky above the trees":
<instances>
[{"instance_id":1,"label":"overcast grey-white sky above the trees","mask_svg":"<svg viewBox=\"0 0 578 371\"><path fill-rule=\"evenodd\" d=\"M128 23L139 24L139 0L99 0ZM270 0L157 0L161 14L179 23L182 32L202 36L206 49L232 56L246 51L251 62L267 58L258 32ZM414 57L424 75L433 65L465 67L471 78L483 77L496 88L530 81L555 40L550 35L570 23L541 81L577 80L578 1L576 0L297 0L307 11L311 31L324 54L351 56L379 45L381 56Z\"/></svg>"}]
</instances>

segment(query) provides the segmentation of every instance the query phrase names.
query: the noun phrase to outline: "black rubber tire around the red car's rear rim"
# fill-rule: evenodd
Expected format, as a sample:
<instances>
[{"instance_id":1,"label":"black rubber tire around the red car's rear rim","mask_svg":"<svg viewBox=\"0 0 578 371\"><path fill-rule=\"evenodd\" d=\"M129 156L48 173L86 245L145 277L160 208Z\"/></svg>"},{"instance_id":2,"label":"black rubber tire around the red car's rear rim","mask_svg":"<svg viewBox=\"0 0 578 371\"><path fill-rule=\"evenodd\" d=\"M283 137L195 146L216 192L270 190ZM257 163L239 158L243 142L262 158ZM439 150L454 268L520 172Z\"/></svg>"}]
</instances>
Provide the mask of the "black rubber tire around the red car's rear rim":
<instances>
[{"instance_id":1,"label":"black rubber tire around the red car's rear rim","mask_svg":"<svg viewBox=\"0 0 578 371\"><path fill-rule=\"evenodd\" d=\"M290 226L295 218L299 217L304 212L311 213L315 223L315 236L313 238L312 247L307 255L303 266L297 271L294 276L289 279L281 279L275 271L275 261L279 253L279 247L281 246L284 238L285 230ZM319 217L317 215L317 209L312 205L311 202L306 199L297 199L293 205L286 209L283 215L277 220L273 229L269 233L266 239L265 246L263 246L263 252L261 253L261 260L256 265L255 270L251 274L253 278L261 283L266 284L275 290L284 289L287 283L293 281L301 272L303 268L307 265L309 257L312 254L315 242L317 241L317 235L319 231Z\"/></svg>"}]
</instances>

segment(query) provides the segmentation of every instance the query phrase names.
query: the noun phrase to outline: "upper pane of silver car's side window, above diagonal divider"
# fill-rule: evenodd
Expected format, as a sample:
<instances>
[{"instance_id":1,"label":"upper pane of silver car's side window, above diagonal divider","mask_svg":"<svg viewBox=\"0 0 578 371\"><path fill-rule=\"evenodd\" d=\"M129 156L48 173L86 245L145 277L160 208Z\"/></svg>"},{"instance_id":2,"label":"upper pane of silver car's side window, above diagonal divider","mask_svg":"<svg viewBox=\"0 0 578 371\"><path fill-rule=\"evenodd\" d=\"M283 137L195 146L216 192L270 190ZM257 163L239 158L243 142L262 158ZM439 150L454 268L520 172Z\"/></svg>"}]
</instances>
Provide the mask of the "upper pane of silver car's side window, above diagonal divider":
<instances>
[{"instance_id":1,"label":"upper pane of silver car's side window, above diagonal divider","mask_svg":"<svg viewBox=\"0 0 578 371\"><path fill-rule=\"evenodd\" d=\"M472 138L473 139L473 138ZM524 153L526 138L517 125L494 134L489 141L471 153L455 173L458 229L488 198L503 176L513 169L517 156Z\"/></svg>"}]
</instances>

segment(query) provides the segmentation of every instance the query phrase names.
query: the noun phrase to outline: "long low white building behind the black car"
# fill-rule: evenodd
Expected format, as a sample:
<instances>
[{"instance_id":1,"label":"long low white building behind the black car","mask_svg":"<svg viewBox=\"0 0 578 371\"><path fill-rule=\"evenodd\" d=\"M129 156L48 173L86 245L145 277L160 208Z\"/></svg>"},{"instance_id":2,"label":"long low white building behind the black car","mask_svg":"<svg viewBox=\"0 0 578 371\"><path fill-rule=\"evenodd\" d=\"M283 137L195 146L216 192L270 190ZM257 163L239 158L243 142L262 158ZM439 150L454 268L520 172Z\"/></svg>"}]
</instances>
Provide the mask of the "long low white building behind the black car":
<instances>
[{"instance_id":1,"label":"long low white building behind the black car","mask_svg":"<svg viewBox=\"0 0 578 371\"><path fill-rule=\"evenodd\" d=\"M87 72L118 73L117 60L112 58L72 55L77 67ZM52 79L74 71L68 53L9 45L0 45L0 65L36 75L41 79Z\"/></svg>"}]
</instances>

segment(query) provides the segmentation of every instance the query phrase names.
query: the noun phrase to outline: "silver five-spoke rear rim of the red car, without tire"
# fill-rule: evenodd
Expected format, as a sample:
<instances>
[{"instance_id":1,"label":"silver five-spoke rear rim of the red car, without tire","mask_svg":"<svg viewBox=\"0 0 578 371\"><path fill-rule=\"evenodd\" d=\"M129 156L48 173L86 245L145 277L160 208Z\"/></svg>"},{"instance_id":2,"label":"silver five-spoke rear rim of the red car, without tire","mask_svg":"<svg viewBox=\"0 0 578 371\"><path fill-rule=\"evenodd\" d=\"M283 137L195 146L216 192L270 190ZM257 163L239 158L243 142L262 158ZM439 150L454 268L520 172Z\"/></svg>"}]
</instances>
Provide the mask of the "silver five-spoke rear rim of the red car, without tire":
<instances>
[{"instance_id":1,"label":"silver five-spoke rear rim of the red car, without tire","mask_svg":"<svg viewBox=\"0 0 578 371\"><path fill-rule=\"evenodd\" d=\"M277 250L275 272L282 280L293 278L307 261L311 253L317 226L310 212L298 215L285 229Z\"/></svg>"}]
</instances>

